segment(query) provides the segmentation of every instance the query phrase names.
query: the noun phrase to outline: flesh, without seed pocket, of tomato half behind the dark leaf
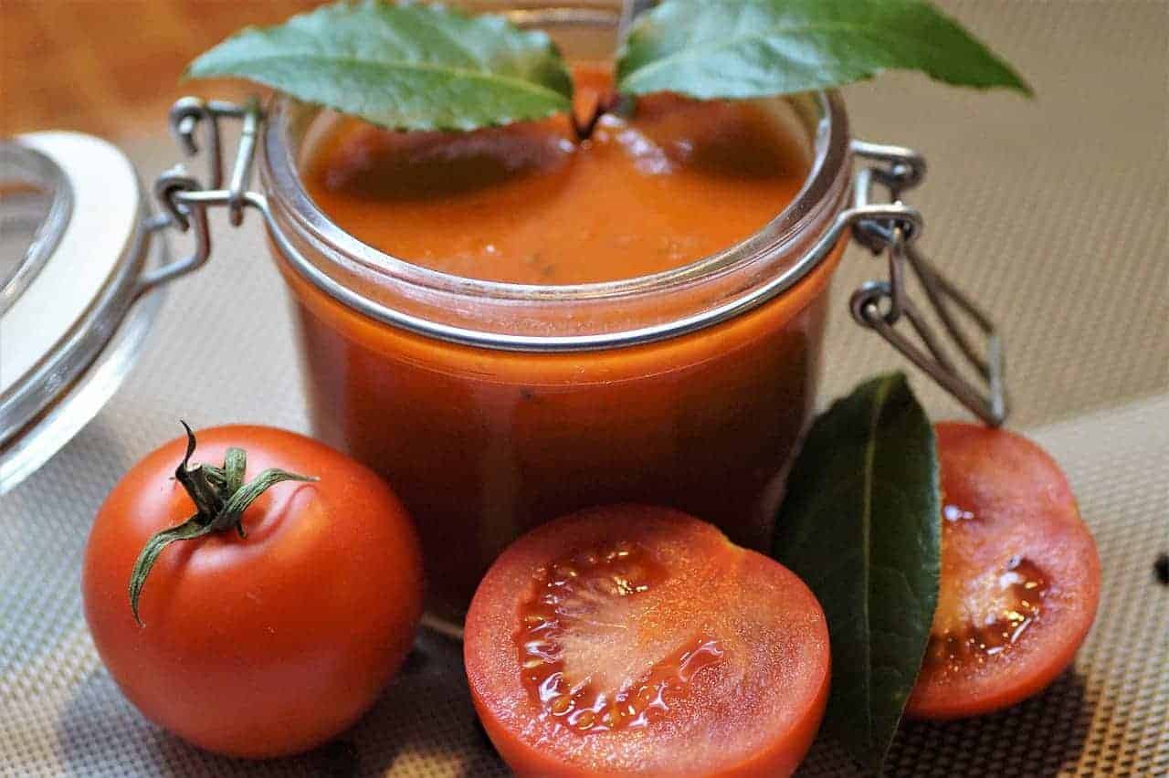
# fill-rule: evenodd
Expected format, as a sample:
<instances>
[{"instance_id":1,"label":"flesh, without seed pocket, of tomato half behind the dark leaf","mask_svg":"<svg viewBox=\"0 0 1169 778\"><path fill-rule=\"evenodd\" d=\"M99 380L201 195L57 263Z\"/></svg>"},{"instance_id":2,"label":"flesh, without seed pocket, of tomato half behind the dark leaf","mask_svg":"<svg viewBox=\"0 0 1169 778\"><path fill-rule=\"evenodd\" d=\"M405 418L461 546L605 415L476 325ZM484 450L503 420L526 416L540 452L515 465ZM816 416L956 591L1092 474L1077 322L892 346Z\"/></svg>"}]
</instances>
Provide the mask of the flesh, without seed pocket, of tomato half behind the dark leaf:
<instances>
[{"instance_id":1,"label":"flesh, without seed pocket, of tomato half behind the dark leaf","mask_svg":"<svg viewBox=\"0 0 1169 778\"><path fill-rule=\"evenodd\" d=\"M947 589L978 570L1018 557L1033 562L1045 581L1037 618L1002 653L957 673L931 667L927 659L905 713L948 720L1014 706L1071 665L1095 618L1100 560L1066 477L1039 446L975 424L943 422L935 431L942 503L973 519L943 521L934 630L953 617L946 612Z\"/></svg>"}]
</instances>

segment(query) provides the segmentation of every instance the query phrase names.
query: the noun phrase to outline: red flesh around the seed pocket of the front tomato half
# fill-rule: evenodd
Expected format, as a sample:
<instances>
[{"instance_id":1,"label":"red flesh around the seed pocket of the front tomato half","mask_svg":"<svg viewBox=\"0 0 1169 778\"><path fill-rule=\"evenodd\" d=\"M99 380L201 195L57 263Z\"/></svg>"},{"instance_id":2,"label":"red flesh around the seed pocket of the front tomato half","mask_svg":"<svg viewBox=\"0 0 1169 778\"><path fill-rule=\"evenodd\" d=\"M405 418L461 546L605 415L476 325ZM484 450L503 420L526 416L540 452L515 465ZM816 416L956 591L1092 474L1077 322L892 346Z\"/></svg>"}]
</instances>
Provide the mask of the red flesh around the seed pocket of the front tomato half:
<instances>
[{"instance_id":1,"label":"red flesh around the seed pocket of the front tomato half","mask_svg":"<svg viewBox=\"0 0 1169 778\"><path fill-rule=\"evenodd\" d=\"M521 686L513 647L521 597L533 571L597 539L663 548L656 537L669 539L660 560L680 570L678 578L690 581L664 588L691 592L700 604L665 598L652 616L629 627L653 640L663 631L680 634L718 625L712 634L727 639L728 655L746 657L738 668L745 667L746 675L732 685L742 694L719 697L712 692L727 687L699 685L692 702L671 706L663 720L624 732L581 735L549 722ZM500 756L521 778L787 776L810 748L828 703L828 626L811 591L777 562L666 508L594 508L538 527L487 572L471 603L464 634L476 713ZM779 693L769 694L774 689Z\"/></svg>"}]
</instances>

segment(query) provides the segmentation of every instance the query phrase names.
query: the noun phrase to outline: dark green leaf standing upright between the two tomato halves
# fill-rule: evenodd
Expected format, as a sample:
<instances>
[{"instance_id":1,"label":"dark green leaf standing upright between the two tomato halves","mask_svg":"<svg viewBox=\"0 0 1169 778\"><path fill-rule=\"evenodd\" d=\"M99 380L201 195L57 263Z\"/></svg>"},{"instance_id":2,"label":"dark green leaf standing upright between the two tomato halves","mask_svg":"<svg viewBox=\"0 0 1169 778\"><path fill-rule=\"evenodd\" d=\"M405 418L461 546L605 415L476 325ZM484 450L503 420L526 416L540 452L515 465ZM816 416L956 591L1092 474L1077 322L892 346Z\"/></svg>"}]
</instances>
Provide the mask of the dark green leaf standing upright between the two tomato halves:
<instances>
[{"instance_id":1,"label":"dark green leaf standing upright between the two tomato halves","mask_svg":"<svg viewBox=\"0 0 1169 778\"><path fill-rule=\"evenodd\" d=\"M879 771L938 604L934 431L901 373L858 385L812 424L773 556L815 592L832 644L825 727Z\"/></svg>"}]
</instances>

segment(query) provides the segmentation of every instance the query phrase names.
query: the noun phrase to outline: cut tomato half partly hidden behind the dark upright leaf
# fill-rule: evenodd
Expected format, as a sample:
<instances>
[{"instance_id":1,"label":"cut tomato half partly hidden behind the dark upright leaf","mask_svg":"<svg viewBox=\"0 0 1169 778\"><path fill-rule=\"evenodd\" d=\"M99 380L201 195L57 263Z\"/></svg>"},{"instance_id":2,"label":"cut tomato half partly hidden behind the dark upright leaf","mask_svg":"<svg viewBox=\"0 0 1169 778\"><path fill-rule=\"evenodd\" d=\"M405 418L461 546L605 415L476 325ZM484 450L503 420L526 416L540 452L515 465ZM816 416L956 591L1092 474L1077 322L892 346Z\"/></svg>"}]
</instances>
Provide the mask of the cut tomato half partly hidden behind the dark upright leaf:
<instances>
[{"instance_id":1,"label":"cut tomato half partly hidden behind the dark upright leaf","mask_svg":"<svg viewBox=\"0 0 1169 778\"><path fill-rule=\"evenodd\" d=\"M1004 430L941 423L942 572L906 714L959 718L1047 687L1095 618L1100 561L1059 466Z\"/></svg>"}]
</instances>

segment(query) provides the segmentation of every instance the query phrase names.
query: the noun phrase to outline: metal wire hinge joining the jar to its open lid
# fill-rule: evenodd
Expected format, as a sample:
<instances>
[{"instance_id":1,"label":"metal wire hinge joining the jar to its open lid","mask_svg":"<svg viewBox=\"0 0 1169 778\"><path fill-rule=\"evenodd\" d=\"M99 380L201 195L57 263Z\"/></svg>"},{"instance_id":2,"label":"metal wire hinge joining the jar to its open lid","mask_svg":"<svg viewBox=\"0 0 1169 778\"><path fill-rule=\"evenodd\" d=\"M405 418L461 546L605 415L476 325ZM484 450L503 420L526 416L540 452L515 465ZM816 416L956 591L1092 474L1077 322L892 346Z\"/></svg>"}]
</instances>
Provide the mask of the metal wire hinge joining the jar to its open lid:
<instances>
[{"instance_id":1,"label":"metal wire hinge joining the jar to its open lid","mask_svg":"<svg viewBox=\"0 0 1169 778\"><path fill-rule=\"evenodd\" d=\"M223 155L220 136L220 119L224 117L240 119L243 123L240 146L231 166L231 178L226 189L222 188ZM210 229L207 225L209 207L227 206L228 218L233 227L243 223L244 207L263 209L263 196L248 190L262 121L263 112L255 97L243 105L184 97L171 107L171 132L188 157L200 152L195 134L199 125L205 127L207 185L203 186L196 178L189 175L181 165L162 173L154 181L154 196L162 207L162 213L152 220L148 227L152 230L175 227L182 232L194 228L195 248L181 259L144 273L138 279L136 296L189 273L207 262L212 252Z\"/></svg>"}]
</instances>

